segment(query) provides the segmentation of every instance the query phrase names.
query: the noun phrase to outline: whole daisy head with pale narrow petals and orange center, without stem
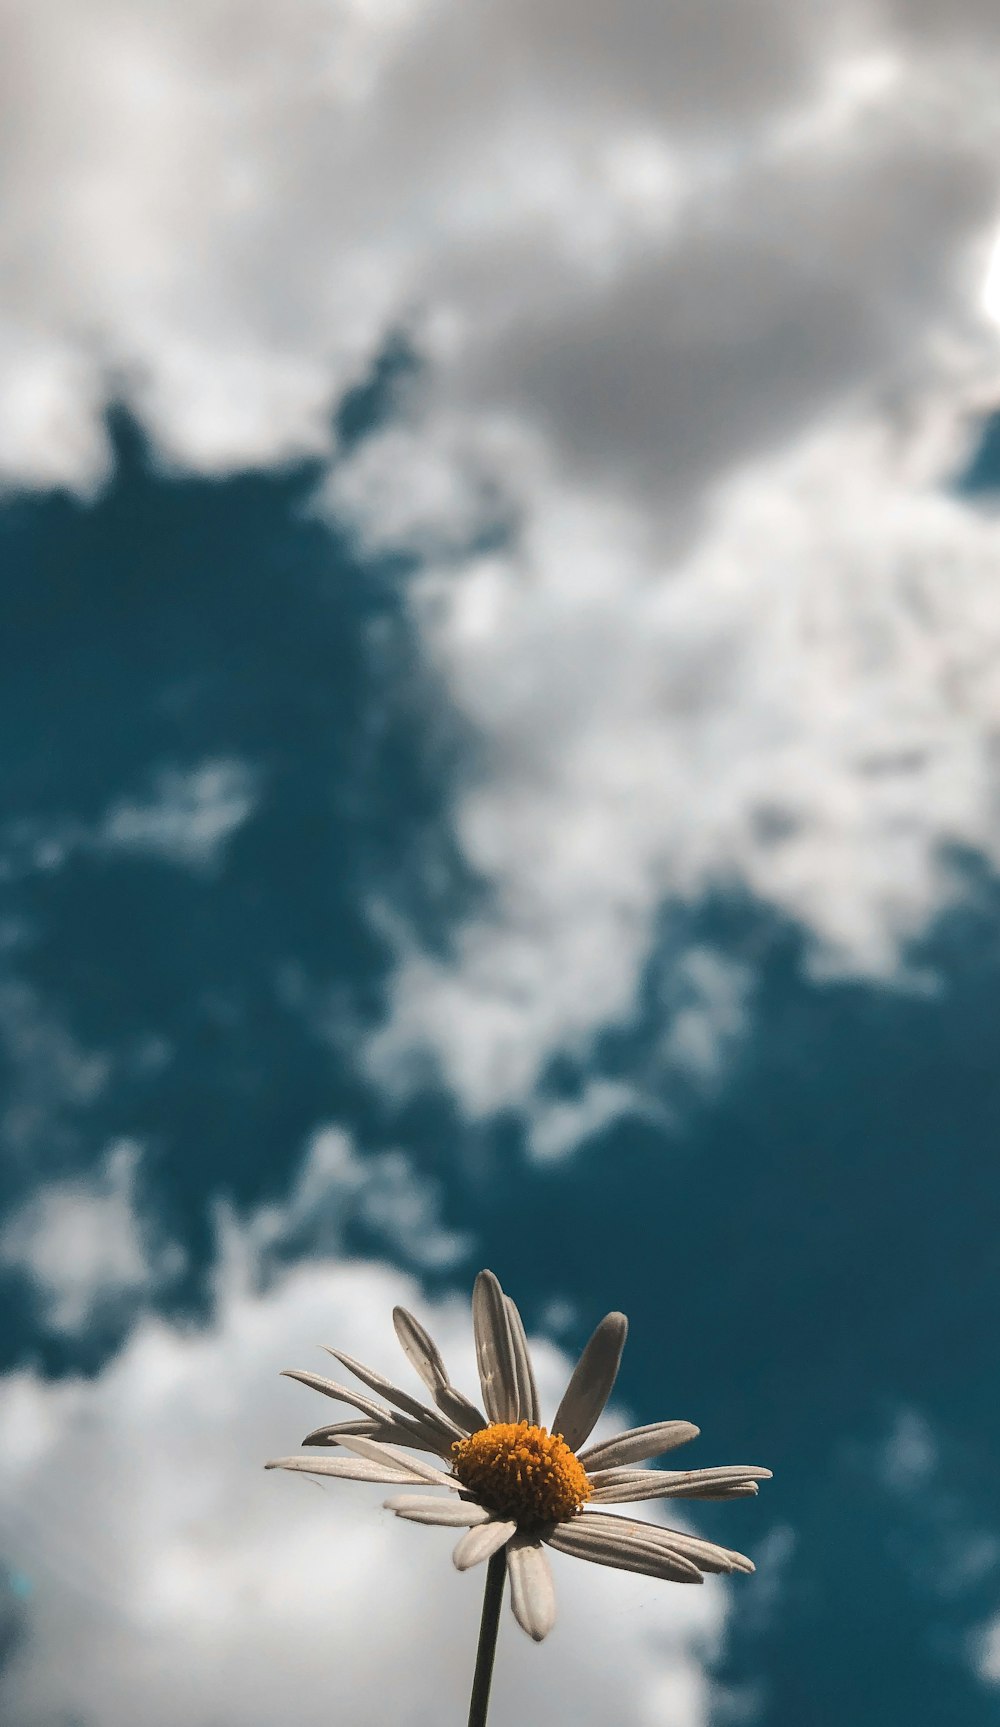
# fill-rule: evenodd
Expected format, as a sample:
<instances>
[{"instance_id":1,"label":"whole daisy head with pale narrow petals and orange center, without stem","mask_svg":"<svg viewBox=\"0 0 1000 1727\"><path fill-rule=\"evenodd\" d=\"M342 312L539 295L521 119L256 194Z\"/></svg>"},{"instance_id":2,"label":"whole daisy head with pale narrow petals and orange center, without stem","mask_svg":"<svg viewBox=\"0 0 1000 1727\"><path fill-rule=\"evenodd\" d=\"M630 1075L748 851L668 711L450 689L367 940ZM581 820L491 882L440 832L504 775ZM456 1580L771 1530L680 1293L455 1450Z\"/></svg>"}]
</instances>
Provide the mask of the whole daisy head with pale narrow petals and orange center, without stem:
<instances>
[{"instance_id":1,"label":"whole daisy head with pale narrow petals and orange center, without stem","mask_svg":"<svg viewBox=\"0 0 1000 1727\"><path fill-rule=\"evenodd\" d=\"M541 1425L522 1316L492 1271L480 1271L472 1297L485 1414L451 1383L440 1351L420 1321L404 1307L396 1307L392 1319L434 1408L332 1349L330 1354L383 1402L318 1373L287 1370L288 1378L352 1406L359 1416L320 1427L302 1440L304 1445L340 1447L347 1456L276 1458L268 1463L269 1470L437 1489L434 1494L399 1494L385 1506L415 1523L465 1530L453 1554L459 1572L506 1547L515 1618L535 1641L554 1622L546 1546L594 1565L679 1584L699 1584L705 1572L753 1572L753 1563L729 1547L599 1509L639 1499L736 1499L755 1494L758 1480L770 1477L770 1470L751 1464L641 1468L696 1439L691 1421L653 1421L585 1445L618 1373L629 1330L625 1314L610 1313L601 1319L549 1428ZM446 1468L430 1463L428 1452Z\"/></svg>"}]
</instances>

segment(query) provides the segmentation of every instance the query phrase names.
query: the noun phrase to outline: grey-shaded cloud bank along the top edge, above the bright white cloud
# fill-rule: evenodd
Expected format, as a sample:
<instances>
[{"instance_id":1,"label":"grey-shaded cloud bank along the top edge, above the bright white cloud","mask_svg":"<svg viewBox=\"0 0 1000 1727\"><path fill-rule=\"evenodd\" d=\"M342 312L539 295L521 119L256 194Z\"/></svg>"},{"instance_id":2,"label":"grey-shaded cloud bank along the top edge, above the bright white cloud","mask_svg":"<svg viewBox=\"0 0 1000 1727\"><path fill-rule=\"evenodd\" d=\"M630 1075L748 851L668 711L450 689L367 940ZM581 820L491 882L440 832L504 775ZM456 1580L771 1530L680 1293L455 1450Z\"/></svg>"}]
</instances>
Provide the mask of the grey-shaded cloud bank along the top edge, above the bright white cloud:
<instances>
[{"instance_id":1,"label":"grey-shaded cloud bank along the top edge, above the bright white cloud","mask_svg":"<svg viewBox=\"0 0 1000 1727\"><path fill-rule=\"evenodd\" d=\"M969 321L984 10L9 7L0 459L98 484L109 397L206 471L323 451L413 325L442 401L684 497Z\"/></svg>"}]
</instances>

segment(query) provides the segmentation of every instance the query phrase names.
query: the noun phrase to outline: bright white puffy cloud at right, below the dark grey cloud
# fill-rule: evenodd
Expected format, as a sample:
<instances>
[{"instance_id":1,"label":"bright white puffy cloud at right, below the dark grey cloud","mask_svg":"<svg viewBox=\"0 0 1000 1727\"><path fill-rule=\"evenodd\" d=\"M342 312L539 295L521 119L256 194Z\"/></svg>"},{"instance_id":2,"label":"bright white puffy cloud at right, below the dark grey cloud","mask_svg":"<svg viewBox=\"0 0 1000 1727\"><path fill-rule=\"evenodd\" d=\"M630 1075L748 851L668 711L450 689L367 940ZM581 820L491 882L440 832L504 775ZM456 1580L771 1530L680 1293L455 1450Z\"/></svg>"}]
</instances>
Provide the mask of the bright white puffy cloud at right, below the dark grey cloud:
<instances>
[{"instance_id":1,"label":"bright white puffy cloud at right, below the dark grey cloud","mask_svg":"<svg viewBox=\"0 0 1000 1727\"><path fill-rule=\"evenodd\" d=\"M960 891L948 848L1000 860L997 523L938 461L850 418L746 466L655 573L629 518L554 484L508 549L428 570L428 651L484 741L456 829L494 898L449 960L401 950L382 1076L423 1050L472 1110L530 1097L629 1019L661 908L710 891L801 926L817 972L898 976ZM670 958L706 1005L663 1003L667 1048L710 1069L751 977Z\"/></svg>"}]
</instances>

